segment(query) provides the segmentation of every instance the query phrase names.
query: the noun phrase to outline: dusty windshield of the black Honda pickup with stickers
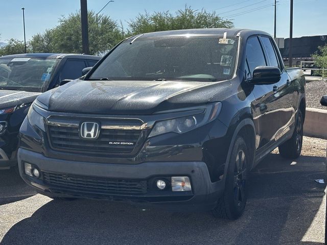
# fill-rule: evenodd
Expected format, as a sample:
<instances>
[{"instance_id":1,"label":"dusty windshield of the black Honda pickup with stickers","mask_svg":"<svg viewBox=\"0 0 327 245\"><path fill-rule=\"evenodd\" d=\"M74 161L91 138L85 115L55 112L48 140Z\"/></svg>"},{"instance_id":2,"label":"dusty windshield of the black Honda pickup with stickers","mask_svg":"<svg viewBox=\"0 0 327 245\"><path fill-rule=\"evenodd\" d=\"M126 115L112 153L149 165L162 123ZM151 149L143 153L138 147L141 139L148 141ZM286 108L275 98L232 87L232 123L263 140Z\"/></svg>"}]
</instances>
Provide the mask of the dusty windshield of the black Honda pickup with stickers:
<instances>
[{"instance_id":1,"label":"dusty windshield of the black Honda pickup with stickers","mask_svg":"<svg viewBox=\"0 0 327 245\"><path fill-rule=\"evenodd\" d=\"M235 70L237 47L236 38L136 36L116 47L90 80L227 80Z\"/></svg>"}]
</instances>

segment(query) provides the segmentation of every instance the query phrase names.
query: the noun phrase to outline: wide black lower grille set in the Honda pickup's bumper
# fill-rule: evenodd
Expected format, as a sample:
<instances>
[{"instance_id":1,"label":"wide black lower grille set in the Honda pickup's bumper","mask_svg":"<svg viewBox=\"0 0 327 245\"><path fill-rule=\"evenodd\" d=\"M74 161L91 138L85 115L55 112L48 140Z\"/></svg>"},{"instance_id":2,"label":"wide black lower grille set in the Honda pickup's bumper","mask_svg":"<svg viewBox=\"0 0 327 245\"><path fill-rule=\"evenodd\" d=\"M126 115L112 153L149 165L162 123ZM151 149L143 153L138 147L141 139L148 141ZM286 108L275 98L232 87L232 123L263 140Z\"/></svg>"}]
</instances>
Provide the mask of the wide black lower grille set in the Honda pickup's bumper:
<instances>
[{"instance_id":1,"label":"wide black lower grille set in the Honda pickup's bumper","mask_svg":"<svg viewBox=\"0 0 327 245\"><path fill-rule=\"evenodd\" d=\"M77 195L97 196L112 194L147 193L146 180L125 180L104 177L66 175L42 172L44 183L55 192L71 192Z\"/></svg>"}]
</instances>

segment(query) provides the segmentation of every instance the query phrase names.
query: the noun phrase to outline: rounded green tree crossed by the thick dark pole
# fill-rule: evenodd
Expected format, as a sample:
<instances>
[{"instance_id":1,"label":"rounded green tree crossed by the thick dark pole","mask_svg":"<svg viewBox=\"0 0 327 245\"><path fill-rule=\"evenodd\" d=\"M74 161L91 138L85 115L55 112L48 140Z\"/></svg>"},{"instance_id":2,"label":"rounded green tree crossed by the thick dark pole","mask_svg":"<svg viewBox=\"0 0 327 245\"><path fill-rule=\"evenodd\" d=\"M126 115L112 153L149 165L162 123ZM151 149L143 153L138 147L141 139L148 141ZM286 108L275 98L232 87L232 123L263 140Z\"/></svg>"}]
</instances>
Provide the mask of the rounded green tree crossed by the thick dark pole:
<instances>
[{"instance_id":1,"label":"rounded green tree crossed by the thick dark pole","mask_svg":"<svg viewBox=\"0 0 327 245\"><path fill-rule=\"evenodd\" d=\"M59 25L52 30L53 50L58 53L82 53L81 14L76 12L59 19ZM90 54L103 53L112 48L122 38L115 21L105 15L88 12L88 37Z\"/></svg>"}]
</instances>

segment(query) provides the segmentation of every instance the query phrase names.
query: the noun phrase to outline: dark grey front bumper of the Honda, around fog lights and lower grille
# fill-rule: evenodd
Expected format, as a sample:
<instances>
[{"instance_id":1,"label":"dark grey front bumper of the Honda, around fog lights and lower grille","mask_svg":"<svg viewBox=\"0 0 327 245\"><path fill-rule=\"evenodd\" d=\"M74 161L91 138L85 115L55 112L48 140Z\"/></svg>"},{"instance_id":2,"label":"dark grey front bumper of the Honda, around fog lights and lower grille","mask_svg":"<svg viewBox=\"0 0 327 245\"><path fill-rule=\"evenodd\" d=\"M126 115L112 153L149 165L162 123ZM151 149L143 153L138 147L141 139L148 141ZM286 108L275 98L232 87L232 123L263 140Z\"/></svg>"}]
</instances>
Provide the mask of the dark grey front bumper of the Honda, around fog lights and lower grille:
<instances>
[{"instance_id":1,"label":"dark grey front bumper of the Honda, around fog lights and lower grille","mask_svg":"<svg viewBox=\"0 0 327 245\"><path fill-rule=\"evenodd\" d=\"M39 179L31 178L25 174L24 163L36 165L41 173L54 173L64 176L80 176L91 178L112 178L123 180L145 180L147 191L142 194L101 193L97 191L84 191L65 189L61 186L49 184L41 175ZM222 195L223 181L212 183L207 166L200 161L185 162L143 162L139 164L114 164L83 161L68 161L45 157L40 153L26 149L18 150L18 166L22 179L35 187L41 194L48 197L77 197L90 199L105 199L112 201L128 201L142 203L143 205L158 205L171 211L206 211L216 206L218 198ZM192 191L172 192L154 190L151 180L157 177L188 176L191 180ZM68 178L69 179L69 178ZM69 179L71 181L71 179ZM94 187L94 186L93 186Z\"/></svg>"}]
</instances>

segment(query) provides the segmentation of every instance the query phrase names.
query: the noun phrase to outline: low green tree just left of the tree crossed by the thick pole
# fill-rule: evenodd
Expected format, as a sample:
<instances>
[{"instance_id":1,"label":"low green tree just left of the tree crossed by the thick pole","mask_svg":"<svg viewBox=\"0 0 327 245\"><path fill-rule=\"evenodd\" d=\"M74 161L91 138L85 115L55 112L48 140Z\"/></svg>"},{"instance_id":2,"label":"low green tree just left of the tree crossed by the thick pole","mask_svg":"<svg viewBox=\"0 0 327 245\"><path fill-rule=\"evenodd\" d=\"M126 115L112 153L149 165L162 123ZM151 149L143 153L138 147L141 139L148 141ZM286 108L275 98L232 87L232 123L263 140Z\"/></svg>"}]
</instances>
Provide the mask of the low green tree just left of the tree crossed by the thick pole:
<instances>
[{"instance_id":1,"label":"low green tree just left of the tree crossed by the thick pole","mask_svg":"<svg viewBox=\"0 0 327 245\"><path fill-rule=\"evenodd\" d=\"M46 29L32 36L30 46L33 53L54 53L53 31Z\"/></svg>"}]
</instances>

